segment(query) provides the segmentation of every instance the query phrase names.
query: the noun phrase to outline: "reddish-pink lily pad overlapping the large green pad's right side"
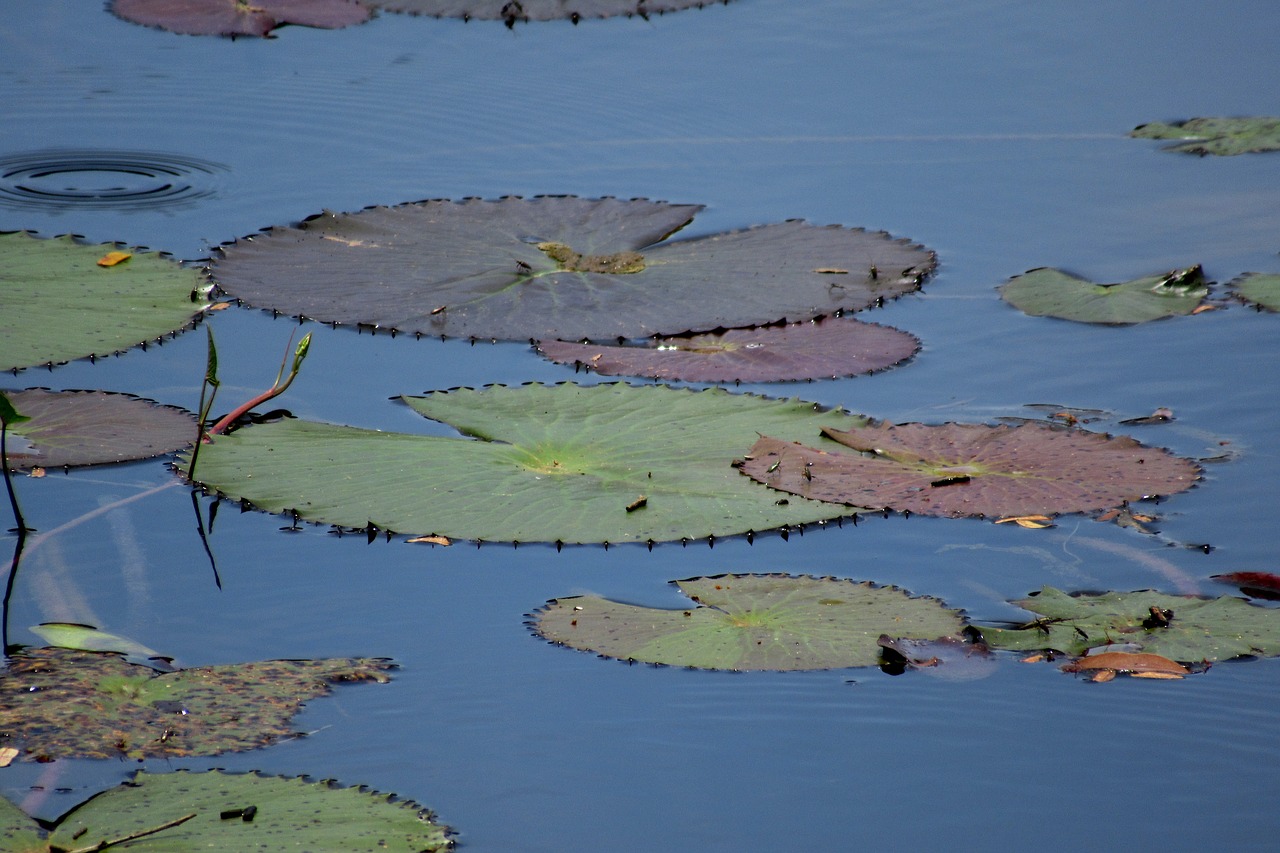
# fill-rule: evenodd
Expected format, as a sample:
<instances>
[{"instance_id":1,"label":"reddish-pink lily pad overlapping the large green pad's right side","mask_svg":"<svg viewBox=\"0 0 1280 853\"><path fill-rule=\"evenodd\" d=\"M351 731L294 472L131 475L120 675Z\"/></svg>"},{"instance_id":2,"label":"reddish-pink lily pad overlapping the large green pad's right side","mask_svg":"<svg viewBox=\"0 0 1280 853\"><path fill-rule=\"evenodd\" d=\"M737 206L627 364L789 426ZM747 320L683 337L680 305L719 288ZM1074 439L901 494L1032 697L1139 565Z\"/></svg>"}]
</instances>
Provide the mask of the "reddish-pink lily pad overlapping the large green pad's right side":
<instances>
[{"instance_id":1,"label":"reddish-pink lily pad overlapping the large green pad's right side","mask_svg":"<svg viewBox=\"0 0 1280 853\"><path fill-rule=\"evenodd\" d=\"M823 434L854 452L765 435L741 471L812 500L950 517L1085 512L1199 479L1190 460L1083 429L882 423Z\"/></svg>"}]
</instances>

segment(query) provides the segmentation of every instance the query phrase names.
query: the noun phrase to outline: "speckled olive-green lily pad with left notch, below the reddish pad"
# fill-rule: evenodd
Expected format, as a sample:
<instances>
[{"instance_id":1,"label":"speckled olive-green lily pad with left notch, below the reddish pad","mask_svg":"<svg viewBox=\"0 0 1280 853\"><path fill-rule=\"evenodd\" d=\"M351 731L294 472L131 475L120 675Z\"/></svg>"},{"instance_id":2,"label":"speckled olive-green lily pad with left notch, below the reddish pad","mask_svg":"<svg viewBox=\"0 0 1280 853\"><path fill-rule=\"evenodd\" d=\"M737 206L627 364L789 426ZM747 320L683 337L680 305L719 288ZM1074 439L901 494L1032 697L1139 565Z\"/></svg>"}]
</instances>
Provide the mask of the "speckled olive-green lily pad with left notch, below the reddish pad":
<instances>
[{"instance_id":1,"label":"speckled olive-green lily pad with left notch, below the reddish pad","mask_svg":"<svg viewBox=\"0 0 1280 853\"><path fill-rule=\"evenodd\" d=\"M695 606L639 607L581 596L532 615L532 629L571 648L625 661L707 670L874 666L879 638L956 635L960 611L896 587L841 578L718 575L673 581Z\"/></svg>"}]
</instances>

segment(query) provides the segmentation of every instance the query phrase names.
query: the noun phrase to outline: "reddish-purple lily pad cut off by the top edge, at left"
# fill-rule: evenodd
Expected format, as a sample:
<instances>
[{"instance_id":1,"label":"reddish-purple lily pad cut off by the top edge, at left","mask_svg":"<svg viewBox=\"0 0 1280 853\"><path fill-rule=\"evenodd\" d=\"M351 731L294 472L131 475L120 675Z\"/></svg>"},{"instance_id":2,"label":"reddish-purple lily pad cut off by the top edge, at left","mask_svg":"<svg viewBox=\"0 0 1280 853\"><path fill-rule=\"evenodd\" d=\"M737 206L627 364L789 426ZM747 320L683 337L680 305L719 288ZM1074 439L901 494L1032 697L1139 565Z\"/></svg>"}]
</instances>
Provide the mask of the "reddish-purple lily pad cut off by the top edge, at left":
<instances>
[{"instance_id":1,"label":"reddish-purple lily pad cut off by the top edge, at left","mask_svg":"<svg viewBox=\"0 0 1280 853\"><path fill-rule=\"evenodd\" d=\"M284 24L338 29L369 20L356 0L111 0L132 23L188 36L266 36Z\"/></svg>"}]
</instances>

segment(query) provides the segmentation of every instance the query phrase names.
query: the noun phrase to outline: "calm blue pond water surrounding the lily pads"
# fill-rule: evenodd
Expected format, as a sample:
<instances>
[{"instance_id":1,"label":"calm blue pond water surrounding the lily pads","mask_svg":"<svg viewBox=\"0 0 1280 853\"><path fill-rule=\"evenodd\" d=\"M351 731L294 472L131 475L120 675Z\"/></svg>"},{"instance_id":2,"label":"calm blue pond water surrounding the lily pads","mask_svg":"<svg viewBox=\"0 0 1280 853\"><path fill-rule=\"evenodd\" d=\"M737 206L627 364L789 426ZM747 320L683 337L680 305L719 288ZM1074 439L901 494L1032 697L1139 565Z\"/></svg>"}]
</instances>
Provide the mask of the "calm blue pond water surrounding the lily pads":
<instances>
[{"instance_id":1,"label":"calm blue pond water surrounding the lily pads","mask_svg":"<svg viewBox=\"0 0 1280 853\"><path fill-rule=\"evenodd\" d=\"M211 538L221 590L175 487L33 549L10 637L37 643L27 625L90 622L184 666L393 657L389 685L311 703L297 724L314 736L145 766L396 792L434 808L475 853L1274 849L1274 660L1106 685L1015 658L973 681L708 674L550 647L524 621L584 592L678 606L667 581L727 571L897 584L1000 620L1021 613L1007 599L1046 584L1220 594L1229 588L1208 575L1274 570L1280 320L1234 305L1087 327L1024 316L995 287L1036 266L1100 282L1196 263L1222 283L1280 270L1276 155L1201 159L1125 137L1149 120L1275 114L1275 24L1262 0L736 0L649 22L508 31L381 15L232 41L132 26L100 0L12 4L0 173L65 168L36 192L0 192L0 231L196 260L324 209L536 193L705 204L689 234L788 218L886 229L940 257L923 293L868 315L919 336L916 359L740 391L932 423L1055 403L1106 410L1093 426L1112 430L1167 406L1176 420L1125 432L1181 455L1235 456L1153 507L1160 537L1085 516L1048 530L873 517L786 542L557 553L282 533L278 517L225 506ZM143 167L122 178L120 163ZM164 184L178 188L155 191ZM60 197L86 190L116 197ZM293 324L247 309L210 321L220 402L265 388ZM317 328L311 352L282 403L379 429L433 429L394 394L598 380L524 345ZM204 359L205 336L183 334L6 384L195 409ZM49 532L172 480L154 461L19 489L28 521ZM1208 553L1187 547L1204 543ZM52 817L137 766L14 766L0 793Z\"/></svg>"}]
</instances>

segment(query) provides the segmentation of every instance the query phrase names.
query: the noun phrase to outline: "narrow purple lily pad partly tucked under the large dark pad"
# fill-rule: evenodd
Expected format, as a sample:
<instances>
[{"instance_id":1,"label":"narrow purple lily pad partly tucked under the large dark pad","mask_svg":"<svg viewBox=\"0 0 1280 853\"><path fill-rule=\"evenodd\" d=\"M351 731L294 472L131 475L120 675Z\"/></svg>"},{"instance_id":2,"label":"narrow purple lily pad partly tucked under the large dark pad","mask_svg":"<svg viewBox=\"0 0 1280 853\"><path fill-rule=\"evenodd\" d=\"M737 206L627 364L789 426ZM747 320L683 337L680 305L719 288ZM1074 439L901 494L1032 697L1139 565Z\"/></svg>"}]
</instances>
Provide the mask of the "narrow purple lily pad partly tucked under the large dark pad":
<instances>
[{"instance_id":1,"label":"narrow purple lily pad partly tucked under the large dark pad","mask_svg":"<svg viewBox=\"0 0 1280 853\"><path fill-rule=\"evenodd\" d=\"M920 342L906 332L847 318L716 334L658 338L646 346L540 341L558 364L599 374L681 382L794 382L883 370L910 359Z\"/></svg>"}]
</instances>

